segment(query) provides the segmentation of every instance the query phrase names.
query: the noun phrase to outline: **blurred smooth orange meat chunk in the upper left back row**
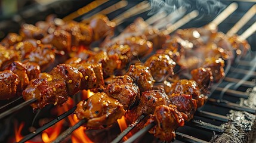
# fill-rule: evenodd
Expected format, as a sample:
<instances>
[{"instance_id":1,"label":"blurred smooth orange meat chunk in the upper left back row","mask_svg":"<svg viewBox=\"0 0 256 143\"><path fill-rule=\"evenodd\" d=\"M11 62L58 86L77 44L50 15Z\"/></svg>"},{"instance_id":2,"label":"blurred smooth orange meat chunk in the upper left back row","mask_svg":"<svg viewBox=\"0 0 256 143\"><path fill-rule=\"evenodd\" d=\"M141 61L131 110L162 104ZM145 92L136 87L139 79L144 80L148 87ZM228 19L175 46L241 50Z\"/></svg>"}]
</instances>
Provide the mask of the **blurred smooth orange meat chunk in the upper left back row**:
<instances>
[{"instance_id":1,"label":"blurred smooth orange meat chunk in the upper left back row","mask_svg":"<svg viewBox=\"0 0 256 143\"><path fill-rule=\"evenodd\" d=\"M41 41L44 44L52 44L59 51L71 51L71 35L64 30L55 30Z\"/></svg>"}]
</instances>

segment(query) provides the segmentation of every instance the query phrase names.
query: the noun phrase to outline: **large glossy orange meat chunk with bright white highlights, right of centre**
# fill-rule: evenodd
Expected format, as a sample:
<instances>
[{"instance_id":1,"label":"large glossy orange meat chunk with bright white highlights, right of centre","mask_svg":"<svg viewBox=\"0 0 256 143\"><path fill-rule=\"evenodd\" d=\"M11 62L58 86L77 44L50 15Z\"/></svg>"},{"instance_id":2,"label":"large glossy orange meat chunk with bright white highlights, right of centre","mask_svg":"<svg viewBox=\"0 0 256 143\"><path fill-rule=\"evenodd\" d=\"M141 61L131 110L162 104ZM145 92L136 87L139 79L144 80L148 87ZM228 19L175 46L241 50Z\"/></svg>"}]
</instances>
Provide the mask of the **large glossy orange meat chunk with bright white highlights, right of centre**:
<instances>
[{"instance_id":1,"label":"large glossy orange meat chunk with bright white highlights, right of centre","mask_svg":"<svg viewBox=\"0 0 256 143\"><path fill-rule=\"evenodd\" d=\"M162 82L167 76L174 74L176 63L169 55L155 54L147 59L145 66L149 67L156 82Z\"/></svg>"}]
</instances>

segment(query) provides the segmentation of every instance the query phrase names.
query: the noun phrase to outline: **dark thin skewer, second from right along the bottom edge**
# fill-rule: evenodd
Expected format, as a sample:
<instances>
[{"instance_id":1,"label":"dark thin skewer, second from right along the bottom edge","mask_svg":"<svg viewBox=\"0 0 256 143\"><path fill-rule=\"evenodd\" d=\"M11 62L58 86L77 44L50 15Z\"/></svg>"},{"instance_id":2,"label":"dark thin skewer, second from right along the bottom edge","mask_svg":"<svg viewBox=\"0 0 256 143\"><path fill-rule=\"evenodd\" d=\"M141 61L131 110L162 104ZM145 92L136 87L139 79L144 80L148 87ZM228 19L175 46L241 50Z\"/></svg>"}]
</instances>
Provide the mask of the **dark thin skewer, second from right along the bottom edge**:
<instances>
[{"instance_id":1,"label":"dark thin skewer, second from right along the bottom edge","mask_svg":"<svg viewBox=\"0 0 256 143\"><path fill-rule=\"evenodd\" d=\"M146 116L144 116L144 114L142 114L140 117L138 117L138 119L135 120L134 123L132 123L131 125L129 125L127 129L125 129L121 134L118 135L118 137L116 137L116 138L115 138L112 142L110 142L110 143L118 143L119 141L121 141L122 138L124 138L125 135L127 135L129 132L131 132L131 130L134 129L134 127L135 127L136 125L138 125L138 123L140 123L141 120L144 119L144 117L146 117Z\"/></svg>"}]
</instances>

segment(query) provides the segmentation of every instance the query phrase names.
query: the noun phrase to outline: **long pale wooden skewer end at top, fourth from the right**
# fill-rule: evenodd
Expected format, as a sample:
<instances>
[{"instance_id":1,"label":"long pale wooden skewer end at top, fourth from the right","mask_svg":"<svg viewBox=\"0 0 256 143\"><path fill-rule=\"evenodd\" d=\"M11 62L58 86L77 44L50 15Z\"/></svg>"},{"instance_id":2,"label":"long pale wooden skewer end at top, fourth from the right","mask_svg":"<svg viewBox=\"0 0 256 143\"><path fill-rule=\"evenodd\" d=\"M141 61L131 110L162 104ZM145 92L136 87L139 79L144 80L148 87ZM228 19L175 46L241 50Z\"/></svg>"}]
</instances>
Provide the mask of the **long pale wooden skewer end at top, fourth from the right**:
<instances>
[{"instance_id":1,"label":"long pale wooden skewer end at top, fourth from the right","mask_svg":"<svg viewBox=\"0 0 256 143\"><path fill-rule=\"evenodd\" d=\"M166 30L163 31L165 35L169 35L170 33L174 32L177 30L179 27L183 26L184 24L188 23L190 20L193 18L196 18L198 16L198 11L193 10L189 14L185 15L183 18L172 24L171 26L167 26Z\"/></svg>"}]
</instances>

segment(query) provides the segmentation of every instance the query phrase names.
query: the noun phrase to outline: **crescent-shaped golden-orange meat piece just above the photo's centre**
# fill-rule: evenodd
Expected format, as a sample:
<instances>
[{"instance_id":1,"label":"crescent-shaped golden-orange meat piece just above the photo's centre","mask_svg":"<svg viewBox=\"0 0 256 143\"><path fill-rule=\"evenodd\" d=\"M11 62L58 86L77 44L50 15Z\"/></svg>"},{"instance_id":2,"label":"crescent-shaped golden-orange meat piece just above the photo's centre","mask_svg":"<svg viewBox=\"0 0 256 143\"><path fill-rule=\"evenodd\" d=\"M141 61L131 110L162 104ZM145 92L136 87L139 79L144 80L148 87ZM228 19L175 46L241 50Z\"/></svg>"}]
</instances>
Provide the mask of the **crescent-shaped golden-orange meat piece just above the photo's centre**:
<instances>
[{"instance_id":1,"label":"crescent-shaped golden-orange meat piece just above the photo's centre","mask_svg":"<svg viewBox=\"0 0 256 143\"><path fill-rule=\"evenodd\" d=\"M109 57L117 56L119 58L121 66L117 67L117 69L123 69L132 58L131 48L128 45L112 45L107 48L107 55Z\"/></svg>"}]
</instances>

